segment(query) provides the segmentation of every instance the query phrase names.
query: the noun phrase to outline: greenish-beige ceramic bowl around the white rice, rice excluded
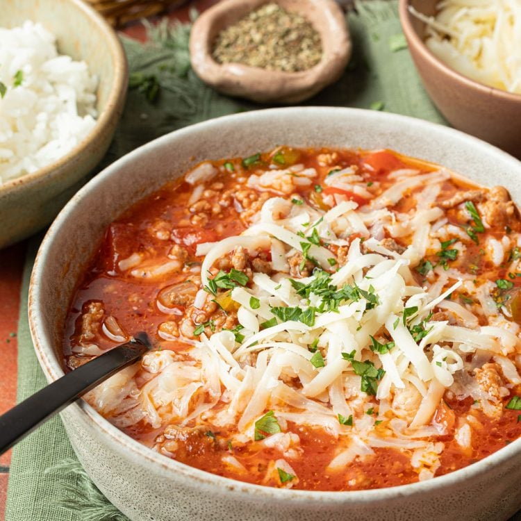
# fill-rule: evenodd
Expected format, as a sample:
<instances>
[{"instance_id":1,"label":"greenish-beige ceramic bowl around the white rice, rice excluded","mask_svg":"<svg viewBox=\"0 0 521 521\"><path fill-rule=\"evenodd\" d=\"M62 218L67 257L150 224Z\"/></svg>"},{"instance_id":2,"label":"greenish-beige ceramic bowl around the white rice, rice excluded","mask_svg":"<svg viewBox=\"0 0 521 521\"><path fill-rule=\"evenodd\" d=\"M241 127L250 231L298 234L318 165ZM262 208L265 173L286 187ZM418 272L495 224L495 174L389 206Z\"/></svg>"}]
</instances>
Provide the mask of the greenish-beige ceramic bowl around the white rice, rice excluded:
<instances>
[{"instance_id":1,"label":"greenish-beige ceramic bowl around the white rice, rice excluded","mask_svg":"<svg viewBox=\"0 0 521 521\"><path fill-rule=\"evenodd\" d=\"M126 58L117 35L81 0L3 0L0 27L40 22L56 35L58 51L85 60L97 74L94 129L60 160L0 185L0 248L49 224L85 182L113 138L126 95Z\"/></svg>"}]
</instances>

